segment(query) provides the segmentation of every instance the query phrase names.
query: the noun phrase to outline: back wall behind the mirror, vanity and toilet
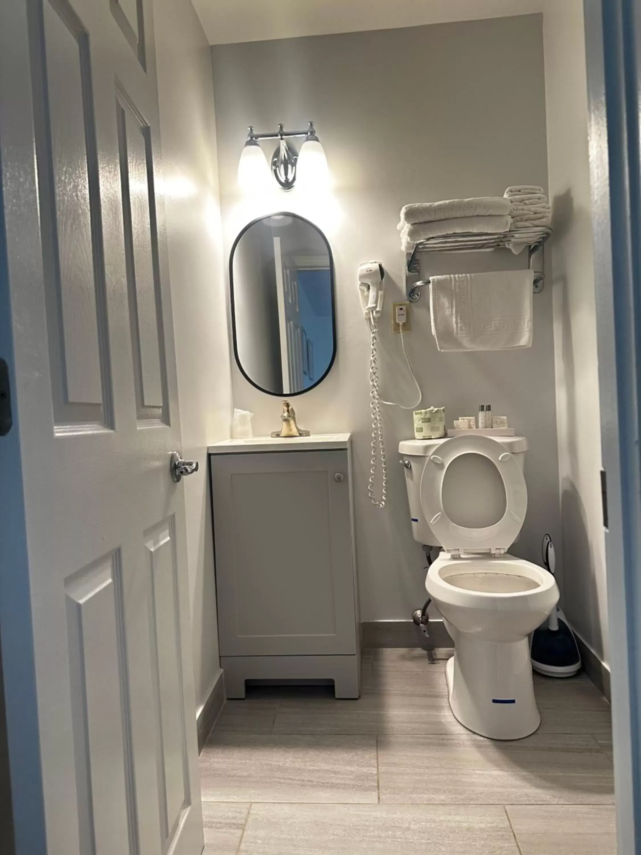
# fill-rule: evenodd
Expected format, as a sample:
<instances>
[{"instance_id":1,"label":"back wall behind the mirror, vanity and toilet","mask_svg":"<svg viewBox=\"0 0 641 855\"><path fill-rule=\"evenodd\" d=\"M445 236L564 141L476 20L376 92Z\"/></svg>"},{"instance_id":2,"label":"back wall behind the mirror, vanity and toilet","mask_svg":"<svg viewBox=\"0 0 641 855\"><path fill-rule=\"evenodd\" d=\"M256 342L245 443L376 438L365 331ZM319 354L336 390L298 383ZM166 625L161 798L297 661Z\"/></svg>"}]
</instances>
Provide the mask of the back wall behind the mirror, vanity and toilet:
<instances>
[{"instance_id":1,"label":"back wall behind the mirror, vanity and toilet","mask_svg":"<svg viewBox=\"0 0 641 855\"><path fill-rule=\"evenodd\" d=\"M397 235L404 203L503 194L511 184L547 186L543 33L540 15L378 32L228 44L213 49L221 206L226 251L257 215L289 209L326 233L334 255L338 356L327 379L297 398L300 422L314 432L355 434L356 539L362 620L408 619L425 598L424 557L412 539L399 439L411 412L385 410L390 469L388 504L369 504L368 328L356 286L359 262L387 270L381 324L382 393L407 403L415 392L390 330L403 299ZM333 189L309 198L275 188L250 200L236 170L247 126L305 127L314 119ZM426 258L424 274L525 261L491 256ZM514 551L538 561L546 531L560 540L552 337L552 289L534 298L534 345L507 353L440 354L426 298L415 306L408 351L425 405L451 420L491 402L530 442L529 507ZM255 433L278 426L280 403L251 387L232 365L234 405L256 413Z\"/></svg>"}]
</instances>

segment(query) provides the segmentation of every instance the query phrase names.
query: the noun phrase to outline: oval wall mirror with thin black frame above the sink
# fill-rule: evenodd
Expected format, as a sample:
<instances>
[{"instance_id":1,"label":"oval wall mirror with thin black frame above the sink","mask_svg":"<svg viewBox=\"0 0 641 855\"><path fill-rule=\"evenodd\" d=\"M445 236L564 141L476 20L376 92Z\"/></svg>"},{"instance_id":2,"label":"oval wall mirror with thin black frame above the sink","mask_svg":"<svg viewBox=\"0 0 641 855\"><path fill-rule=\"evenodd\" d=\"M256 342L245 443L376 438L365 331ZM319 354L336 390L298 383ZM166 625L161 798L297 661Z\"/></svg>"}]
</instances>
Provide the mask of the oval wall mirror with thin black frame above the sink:
<instances>
[{"instance_id":1,"label":"oval wall mirror with thin black frame above the sink","mask_svg":"<svg viewBox=\"0 0 641 855\"><path fill-rule=\"evenodd\" d=\"M269 395L318 386L336 355L332 251L314 223L279 213L250 222L229 261L238 368Z\"/></svg>"}]
</instances>

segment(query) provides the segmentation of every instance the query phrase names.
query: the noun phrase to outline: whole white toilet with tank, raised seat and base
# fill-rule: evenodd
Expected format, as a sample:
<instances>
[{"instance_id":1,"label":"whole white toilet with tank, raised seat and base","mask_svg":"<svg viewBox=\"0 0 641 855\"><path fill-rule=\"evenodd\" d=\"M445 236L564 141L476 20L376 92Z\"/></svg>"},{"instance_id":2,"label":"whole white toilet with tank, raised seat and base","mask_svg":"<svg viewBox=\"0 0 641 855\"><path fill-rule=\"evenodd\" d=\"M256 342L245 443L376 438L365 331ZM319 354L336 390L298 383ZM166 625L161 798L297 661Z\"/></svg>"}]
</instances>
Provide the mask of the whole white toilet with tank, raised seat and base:
<instances>
[{"instance_id":1,"label":"whole white toilet with tank, raised seat and base","mask_svg":"<svg viewBox=\"0 0 641 855\"><path fill-rule=\"evenodd\" d=\"M522 739L541 722L527 636L559 598L554 576L507 553L526 515L527 440L406 439L398 450L415 540L443 547L425 587L455 644L452 712L476 734Z\"/></svg>"}]
</instances>

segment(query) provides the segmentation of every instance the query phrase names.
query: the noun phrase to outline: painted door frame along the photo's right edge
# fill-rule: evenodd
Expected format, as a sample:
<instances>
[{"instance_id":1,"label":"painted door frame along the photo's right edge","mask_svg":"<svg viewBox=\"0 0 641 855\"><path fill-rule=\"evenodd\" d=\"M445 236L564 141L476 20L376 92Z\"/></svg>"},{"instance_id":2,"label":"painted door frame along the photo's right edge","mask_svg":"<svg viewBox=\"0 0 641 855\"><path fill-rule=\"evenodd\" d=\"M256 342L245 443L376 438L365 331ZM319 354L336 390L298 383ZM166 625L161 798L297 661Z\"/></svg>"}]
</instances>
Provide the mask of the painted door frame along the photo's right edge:
<instances>
[{"instance_id":1,"label":"painted door frame along the photo's right edge","mask_svg":"<svg viewBox=\"0 0 641 855\"><path fill-rule=\"evenodd\" d=\"M641 3L584 0L617 840L641 853Z\"/></svg>"}]
</instances>

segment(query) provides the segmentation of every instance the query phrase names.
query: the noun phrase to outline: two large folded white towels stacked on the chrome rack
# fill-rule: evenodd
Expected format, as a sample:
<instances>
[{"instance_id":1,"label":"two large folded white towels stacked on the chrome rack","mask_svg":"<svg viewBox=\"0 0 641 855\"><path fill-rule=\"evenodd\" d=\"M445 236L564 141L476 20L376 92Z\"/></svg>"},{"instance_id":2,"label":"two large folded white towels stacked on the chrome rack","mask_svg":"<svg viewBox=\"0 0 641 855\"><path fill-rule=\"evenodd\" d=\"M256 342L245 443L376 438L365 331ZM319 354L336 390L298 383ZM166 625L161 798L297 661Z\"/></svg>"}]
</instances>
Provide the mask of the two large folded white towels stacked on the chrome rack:
<instances>
[{"instance_id":1,"label":"two large folded white towels stacked on the chrome rack","mask_svg":"<svg viewBox=\"0 0 641 855\"><path fill-rule=\"evenodd\" d=\"M411 252L420 240L450 234L508 232L511 207L511 200L500 196L405 205L398 224L402 249Z\"/></svg>"}]
</instances>

